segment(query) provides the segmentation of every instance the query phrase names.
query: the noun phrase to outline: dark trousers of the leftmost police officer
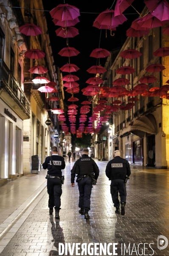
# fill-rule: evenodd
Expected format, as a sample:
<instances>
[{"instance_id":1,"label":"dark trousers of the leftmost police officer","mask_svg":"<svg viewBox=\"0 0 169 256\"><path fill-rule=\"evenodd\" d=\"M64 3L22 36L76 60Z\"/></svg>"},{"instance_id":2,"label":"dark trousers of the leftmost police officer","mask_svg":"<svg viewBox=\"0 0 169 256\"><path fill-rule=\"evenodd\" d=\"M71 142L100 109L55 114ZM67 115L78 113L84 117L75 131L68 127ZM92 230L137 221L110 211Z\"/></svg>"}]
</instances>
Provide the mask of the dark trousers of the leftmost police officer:
<instances>
[{"instance_id":1,"label":"dark trousers of the leftmost police officer","mask_svg":"<svg viewBox=\"0 0 169 256\"><path fill-rule=\"evenodd\" d=\"M47 180L47 189L49 194L48 207L53 208L59 212L62 195L62 181L59 178L50 178Z\"/></svg>"}]
</instances>

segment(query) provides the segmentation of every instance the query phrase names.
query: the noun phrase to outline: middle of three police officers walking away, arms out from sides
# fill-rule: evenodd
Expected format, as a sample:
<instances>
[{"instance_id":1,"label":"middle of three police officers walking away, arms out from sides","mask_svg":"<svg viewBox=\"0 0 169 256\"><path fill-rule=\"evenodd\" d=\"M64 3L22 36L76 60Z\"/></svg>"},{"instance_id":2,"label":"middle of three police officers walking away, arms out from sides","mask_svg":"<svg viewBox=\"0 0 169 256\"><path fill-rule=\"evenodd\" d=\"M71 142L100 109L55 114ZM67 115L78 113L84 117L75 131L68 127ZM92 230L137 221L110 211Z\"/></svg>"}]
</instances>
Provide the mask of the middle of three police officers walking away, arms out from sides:
<instances>
[{"instance_id":1,"label":"middle of three police officers walking away, arms out from sides","mask_svg":"<svg viewBox=\"0 0 169 256\"><path fill-rule=\"evenodd\" d=\"M88 212L90 210L90 196L92 192L92 183L96 184L99 177L99 168L95 161L89 156L89 151L84 148L82 157L80 157L74 164L71 170L71 186L74 187L74 179L77 174L77 183L79 187L79 213L85 215L85 219L90 218ZM95 175L93 175L93 173Z\"/></svg>"}]
</instances>

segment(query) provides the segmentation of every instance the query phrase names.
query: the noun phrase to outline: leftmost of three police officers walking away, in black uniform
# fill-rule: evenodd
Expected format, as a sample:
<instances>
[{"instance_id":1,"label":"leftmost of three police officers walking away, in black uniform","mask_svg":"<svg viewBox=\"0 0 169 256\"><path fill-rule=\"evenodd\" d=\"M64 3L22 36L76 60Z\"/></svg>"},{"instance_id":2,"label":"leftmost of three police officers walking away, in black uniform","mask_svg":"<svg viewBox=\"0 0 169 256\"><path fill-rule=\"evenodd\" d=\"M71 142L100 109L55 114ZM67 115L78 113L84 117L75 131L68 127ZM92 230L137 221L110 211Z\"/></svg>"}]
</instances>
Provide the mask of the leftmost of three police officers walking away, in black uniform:
<instances>
[{"instance_id":1,"label":"leftmost of three police officers walking away, in black uniform","mask_svg":"<svg viewBox=\"0 0 169 256\"><path fill-rule=\"evenodd\" d=\"M55 218L59 219L59 210L61 209L60 197L62 195L62 170L65 169L65 159L57 154L56 147L52 147L51 157L46 157L42 166L43 169L48 169L46 178L49 194L49 214L53 214L53 208L55 207Z\"/></svg>"}]
</instances>

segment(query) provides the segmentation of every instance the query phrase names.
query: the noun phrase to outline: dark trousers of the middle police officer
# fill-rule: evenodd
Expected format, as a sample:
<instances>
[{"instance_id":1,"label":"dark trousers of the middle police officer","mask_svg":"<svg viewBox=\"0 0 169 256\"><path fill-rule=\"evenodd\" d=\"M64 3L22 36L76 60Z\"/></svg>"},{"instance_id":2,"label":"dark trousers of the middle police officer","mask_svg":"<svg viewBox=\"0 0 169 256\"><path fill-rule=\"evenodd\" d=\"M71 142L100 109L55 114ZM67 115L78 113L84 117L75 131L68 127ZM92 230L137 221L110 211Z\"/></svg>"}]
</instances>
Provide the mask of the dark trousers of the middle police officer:
<instances>
[{"instance_id":1,"label":"dark trousers of the middle police officer","mask_svg":"<svg viewBox=\"0 0 169 256\"><path fill-rule=\"evenodd\" d=\"M79 208L90 210L90 196L92 192L92 179L84 177L78 180L79 187Z\"/></svg>"}]
</instances>

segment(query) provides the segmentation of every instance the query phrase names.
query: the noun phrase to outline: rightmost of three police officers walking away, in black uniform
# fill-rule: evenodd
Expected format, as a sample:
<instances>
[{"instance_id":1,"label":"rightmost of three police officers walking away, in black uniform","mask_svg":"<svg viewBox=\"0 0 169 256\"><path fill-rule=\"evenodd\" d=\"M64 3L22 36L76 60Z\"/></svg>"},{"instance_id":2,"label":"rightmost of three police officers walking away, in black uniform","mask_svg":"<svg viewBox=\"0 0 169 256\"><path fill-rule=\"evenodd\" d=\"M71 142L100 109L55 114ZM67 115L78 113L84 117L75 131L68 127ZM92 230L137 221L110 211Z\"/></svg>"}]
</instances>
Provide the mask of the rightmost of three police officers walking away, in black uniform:
<instances>
[{"instance_id":1,"label":"rightmost of three police officers walking away, in black uniform","mask_svg":"<svg viewBox=\"0 0 169 256\"><path fill-rule=\"evenodd\" d=\"M120 151L114 151L114 159L110 160L106 166L106 176L111 180L110 193L114 207L116 207L115 213L120 213L121 203L121 215L125 214L126 205L126 183L124 182L131 174L129 162L120 157ZM118 191L120 194L120 202L118 200Z\"/></svg>"}]
</instances>

